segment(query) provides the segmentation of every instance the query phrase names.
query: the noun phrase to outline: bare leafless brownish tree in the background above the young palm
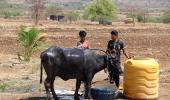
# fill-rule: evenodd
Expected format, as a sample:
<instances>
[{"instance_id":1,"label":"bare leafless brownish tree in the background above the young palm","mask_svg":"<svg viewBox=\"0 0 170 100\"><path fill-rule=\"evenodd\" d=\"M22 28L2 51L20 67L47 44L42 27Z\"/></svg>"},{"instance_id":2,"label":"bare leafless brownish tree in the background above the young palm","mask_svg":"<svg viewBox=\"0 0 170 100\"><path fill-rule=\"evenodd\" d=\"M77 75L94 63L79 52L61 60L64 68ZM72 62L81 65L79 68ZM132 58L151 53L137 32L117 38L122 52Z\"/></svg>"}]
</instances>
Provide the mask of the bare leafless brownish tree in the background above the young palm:
<instances>
[{"instance_id":1,"label":"bare leafless brownish tree in the background above the young palm","mask_svg":"<svg viewBox=\"0 0 170 100\"><path fill-rule=\"evenodd\" d=\"M26 2L31 4L32 17L37 25L45 8L45 0L26 0Z\"/></svg>"}]
</instances>

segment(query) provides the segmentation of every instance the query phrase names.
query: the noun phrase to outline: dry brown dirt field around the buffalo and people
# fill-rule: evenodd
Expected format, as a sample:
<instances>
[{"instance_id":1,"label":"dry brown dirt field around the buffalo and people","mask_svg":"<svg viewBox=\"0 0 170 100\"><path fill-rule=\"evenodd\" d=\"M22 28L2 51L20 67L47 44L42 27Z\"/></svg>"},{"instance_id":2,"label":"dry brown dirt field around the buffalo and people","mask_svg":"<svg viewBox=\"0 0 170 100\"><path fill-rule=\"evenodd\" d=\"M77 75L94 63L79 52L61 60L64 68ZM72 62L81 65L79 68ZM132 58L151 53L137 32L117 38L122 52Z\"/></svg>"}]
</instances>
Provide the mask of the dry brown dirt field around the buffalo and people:
<instances>
[{"instance_id":1,"label":"dry brown dirt field around the buffalo and people","mask_svg":"<svg viewBox=\"0 0 170 100\"><path fill-rule=\"evenodd\" d=\"M30 20L0 19L0 100L32 100L42 99L45 92L39 85L39 54L34 54L30 63L19 62L17 53L22 47L17 41L17 30L20 25L32 26ZM39 26L47 34L50 45L75 47L78 32L86 30L90 48L106 49L110 39L110 31L120 32L120 39L126 44L129 55L135 57L153 57L160 64L159 100L170 98L170 25L168 24L136 24L126 25L113 23L103 26L96 23L77 22L73 24L42 21ZM122 65L125 61L122 56ZM45 75L44 75L45 77ZM103 80L107 77L103 71L95 75L93 86L108 84ZM56 78L55 88L75 89L75 80L67 82ZM83 85L81 87L83 90ZM28 99L29 100L29 99Z\"/></svg>"}]
</instances>

